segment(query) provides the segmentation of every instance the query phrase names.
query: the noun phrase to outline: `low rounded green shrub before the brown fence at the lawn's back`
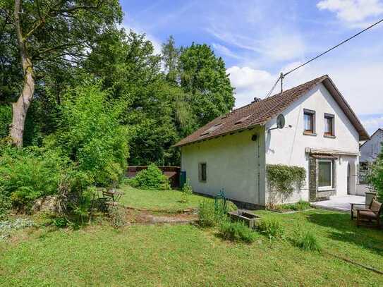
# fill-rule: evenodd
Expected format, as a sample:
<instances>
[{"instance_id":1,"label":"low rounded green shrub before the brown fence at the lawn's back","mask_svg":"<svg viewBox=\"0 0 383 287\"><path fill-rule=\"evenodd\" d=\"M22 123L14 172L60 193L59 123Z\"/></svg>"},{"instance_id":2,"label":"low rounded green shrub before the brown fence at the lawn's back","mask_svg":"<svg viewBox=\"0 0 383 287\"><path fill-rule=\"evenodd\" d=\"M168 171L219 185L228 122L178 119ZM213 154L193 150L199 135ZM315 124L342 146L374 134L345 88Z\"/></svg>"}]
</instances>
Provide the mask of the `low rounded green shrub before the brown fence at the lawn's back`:
<instances>
[{"instance_id":1,"label":"low rounded green shrub before the brown fence at the lawn's back","mask_svg":"<svg viewBox=\"0 0 383 287\"><path fill-rule=\"evenodd\" d=\"M137 175L130 180L130 185L134 188L146 190L169 190L170 183L168 178L155 165L150 164L147 169L138 171Z\"/></svg>"}]
</instances>

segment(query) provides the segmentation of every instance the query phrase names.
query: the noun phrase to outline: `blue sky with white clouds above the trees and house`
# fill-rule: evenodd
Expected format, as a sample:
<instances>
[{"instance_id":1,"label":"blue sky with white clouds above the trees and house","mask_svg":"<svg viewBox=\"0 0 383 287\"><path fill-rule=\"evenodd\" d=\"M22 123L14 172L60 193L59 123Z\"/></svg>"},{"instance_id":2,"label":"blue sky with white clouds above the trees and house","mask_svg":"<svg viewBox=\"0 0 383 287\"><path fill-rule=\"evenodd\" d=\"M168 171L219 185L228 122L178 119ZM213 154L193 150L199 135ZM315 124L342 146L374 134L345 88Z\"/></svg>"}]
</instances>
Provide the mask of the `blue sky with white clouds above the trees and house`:
<instances>
[{"instance_id":1,"label":"blue sky with white clouds above the trees and house","mask_svg":"<svg viewBox=\"0 0 383 287\"><path fill-rule=\"evenodd\" d=\"M383 18L383 0L126 1L123 25L156 51L206 43L236 87L236 106L265 97L281 71ZM328 74L372 133L383 127L383 23L291 73L285 87Z\"/></svg>"}]
</instances>

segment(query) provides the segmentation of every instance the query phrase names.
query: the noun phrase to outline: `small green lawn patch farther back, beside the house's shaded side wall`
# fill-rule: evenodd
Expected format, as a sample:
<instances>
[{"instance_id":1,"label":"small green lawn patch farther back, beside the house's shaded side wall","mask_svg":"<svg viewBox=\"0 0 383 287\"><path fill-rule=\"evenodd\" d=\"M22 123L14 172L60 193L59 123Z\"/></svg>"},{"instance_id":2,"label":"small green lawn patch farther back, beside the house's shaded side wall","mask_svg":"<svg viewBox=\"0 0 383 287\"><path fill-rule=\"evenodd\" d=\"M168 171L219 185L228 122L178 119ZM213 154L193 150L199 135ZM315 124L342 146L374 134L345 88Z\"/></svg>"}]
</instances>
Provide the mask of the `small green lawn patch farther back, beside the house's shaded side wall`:
<instances>
[{"instance_id":1,"label":"small green lawn patch farther back, beside the house's shaded side wall","mask_svg":"<svg viewBox=\"0 0 383 287\"><path fill-rule=\"evenodd\" d=\"M160 212L181 212L189 207L198 207L201 200L212 200L193 194L188 197L188 202L181 202L182 193L179 190L140 190L128 185L122 186L120 190L124 193L121 204Z\"/></svg>"}]
</instances>

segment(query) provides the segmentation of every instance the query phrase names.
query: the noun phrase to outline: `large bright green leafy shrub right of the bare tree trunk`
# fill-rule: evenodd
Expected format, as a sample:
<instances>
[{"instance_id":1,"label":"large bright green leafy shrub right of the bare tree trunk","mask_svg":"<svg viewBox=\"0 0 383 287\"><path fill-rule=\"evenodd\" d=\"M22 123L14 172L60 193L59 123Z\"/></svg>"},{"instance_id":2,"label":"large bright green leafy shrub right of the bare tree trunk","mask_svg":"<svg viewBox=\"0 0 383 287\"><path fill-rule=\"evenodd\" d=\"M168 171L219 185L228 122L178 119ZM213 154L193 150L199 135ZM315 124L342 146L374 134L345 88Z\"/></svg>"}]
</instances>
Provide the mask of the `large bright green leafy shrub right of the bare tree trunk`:
<instances>
[{"instance_id":1,"label":"large bright green leafy shrub right of the bare tree trunk","mask_svg":"<svg viewBox=\"0 0 383 287\"><path fill-rule=\"evenodd\" d=\"M128 130L119 121L121 107L98 84L84 83L65 95L59 129L45 144L61 149L97 185L115 185L123 178L128 159Z\"/></svg>"}]
</instances>

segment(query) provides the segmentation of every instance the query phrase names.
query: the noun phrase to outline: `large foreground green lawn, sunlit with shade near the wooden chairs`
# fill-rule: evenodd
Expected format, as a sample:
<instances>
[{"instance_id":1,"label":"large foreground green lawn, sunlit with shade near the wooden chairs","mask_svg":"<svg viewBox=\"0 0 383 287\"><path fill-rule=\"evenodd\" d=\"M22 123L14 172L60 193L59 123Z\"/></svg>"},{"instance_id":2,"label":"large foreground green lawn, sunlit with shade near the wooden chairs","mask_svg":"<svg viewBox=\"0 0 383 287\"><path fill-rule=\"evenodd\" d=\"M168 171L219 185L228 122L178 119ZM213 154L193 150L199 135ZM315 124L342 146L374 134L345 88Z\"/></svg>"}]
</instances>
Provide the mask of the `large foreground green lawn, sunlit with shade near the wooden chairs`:
<instances>
[{"instance_id":1,"label":"large foreground green lawn, sunlit with shade near the wooden chairs","mask_svg":"<svg viewBox=\"0 0 383 287\"><path fill-rule=\"evenodd\" d=\"M312 210L277 217L288 236L298 225L326 252L383 269L383 231L355 228L348 214ZM79 231L19 231L0 243L1 286L382 286L383 276L327 253L259 235L251 245L196 226L107 224Z\"/></svg>"}]
</instances>

